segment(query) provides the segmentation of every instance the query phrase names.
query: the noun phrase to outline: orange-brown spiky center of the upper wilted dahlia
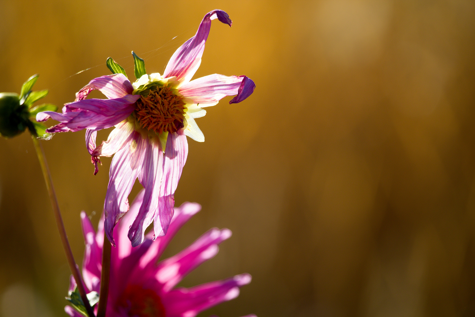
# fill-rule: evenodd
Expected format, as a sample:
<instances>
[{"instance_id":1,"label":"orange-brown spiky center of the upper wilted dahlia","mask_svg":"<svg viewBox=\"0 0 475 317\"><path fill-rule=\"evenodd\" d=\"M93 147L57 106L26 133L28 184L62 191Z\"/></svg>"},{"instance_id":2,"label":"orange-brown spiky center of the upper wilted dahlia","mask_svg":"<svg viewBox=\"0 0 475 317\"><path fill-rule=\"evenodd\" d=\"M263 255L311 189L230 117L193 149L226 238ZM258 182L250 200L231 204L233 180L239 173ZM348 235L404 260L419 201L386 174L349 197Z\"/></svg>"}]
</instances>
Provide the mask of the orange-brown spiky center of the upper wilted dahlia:
<instances>
[{"instance_id":1,"label":"orange-brown spiky center of the upper wilted dahlia","mask_svg":"<svg viewBox=\"0 0 475 317\"><path fill-rule=\"evenodd\" d=\"M173 133L183 127L184 109L183 97L173 94L165 85L150 89L147 96L137 100L135 117L142 128L157 134Z\"/></svg>"}]
</instances>

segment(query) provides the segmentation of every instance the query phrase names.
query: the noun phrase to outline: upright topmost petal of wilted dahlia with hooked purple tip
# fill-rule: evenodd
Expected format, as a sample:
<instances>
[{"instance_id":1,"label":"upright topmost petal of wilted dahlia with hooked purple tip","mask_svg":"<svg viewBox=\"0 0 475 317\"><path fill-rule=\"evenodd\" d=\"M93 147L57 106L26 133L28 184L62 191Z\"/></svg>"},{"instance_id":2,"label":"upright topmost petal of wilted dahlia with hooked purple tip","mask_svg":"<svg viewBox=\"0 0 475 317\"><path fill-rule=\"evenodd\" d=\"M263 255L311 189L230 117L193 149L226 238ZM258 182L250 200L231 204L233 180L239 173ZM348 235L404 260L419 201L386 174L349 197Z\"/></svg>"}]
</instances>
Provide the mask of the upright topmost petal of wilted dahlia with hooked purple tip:
<instances>
[{"instance_id":1,"label":"upright topmost petal of wilted dahlia with hooked purple tip","mask_svg":"<svg viewBox=\"0 0 475 317\"><path fill-rule=\"evenodd\" d=\"M211 28L211 20L216 18L222 23L232 25L228 13L223 10L208 12L199 24L195 36L180 46L170 58L163 77L176 76L182 83L190 81L201 63L201 56Z\"/></svg>"}]
</instances>

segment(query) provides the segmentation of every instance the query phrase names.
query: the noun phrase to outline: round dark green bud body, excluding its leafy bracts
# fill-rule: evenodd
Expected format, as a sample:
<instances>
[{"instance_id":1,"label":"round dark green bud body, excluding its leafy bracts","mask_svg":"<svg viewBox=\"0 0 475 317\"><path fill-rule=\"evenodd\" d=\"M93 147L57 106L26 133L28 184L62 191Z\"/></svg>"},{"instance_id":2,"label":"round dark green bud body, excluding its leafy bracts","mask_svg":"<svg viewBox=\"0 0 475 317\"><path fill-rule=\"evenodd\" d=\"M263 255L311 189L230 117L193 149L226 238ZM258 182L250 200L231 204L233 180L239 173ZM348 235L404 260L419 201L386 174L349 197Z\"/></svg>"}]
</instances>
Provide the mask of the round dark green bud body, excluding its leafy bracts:
<instances>
[{"instance_id":1,"label":"round dark green bud body, excluding its leafy bracts","mask_svg":"<svg viewBox=\"0 0 475 317\"><path fill-rule=\"evenodd\" d=\"M20 105L15 93L0 93L0 134L13 137L32 125L28 119L28 107Z\"/></svg>"}]
</instances>

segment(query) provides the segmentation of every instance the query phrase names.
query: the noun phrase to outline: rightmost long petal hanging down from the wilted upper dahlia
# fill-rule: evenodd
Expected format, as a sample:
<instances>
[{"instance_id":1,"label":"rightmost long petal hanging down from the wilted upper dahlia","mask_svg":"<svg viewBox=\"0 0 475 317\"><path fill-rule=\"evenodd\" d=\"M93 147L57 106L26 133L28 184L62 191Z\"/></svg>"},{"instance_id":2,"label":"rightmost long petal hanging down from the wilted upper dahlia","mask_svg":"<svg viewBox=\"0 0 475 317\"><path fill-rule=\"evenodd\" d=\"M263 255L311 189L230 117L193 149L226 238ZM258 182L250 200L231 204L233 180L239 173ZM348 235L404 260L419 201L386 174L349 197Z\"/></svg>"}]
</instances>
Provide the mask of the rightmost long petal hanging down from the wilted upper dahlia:
<instances>
[{"instance_id":1,"label":"rightmost long petal hanging down from the wilted upper dahlia","mask_svg":"<svg viewBox=\"0 0 475 317\"><path fill-rule=\"evenodd\" d=\"M183 131L169 133L165 154L163 155L163 176L160 185L158 213L155 213L153 221L155 236L162 236L167 233L168 226L173 217L175 190L180 181L187 156L188 142Z\"/></svg>"}]
</instances>

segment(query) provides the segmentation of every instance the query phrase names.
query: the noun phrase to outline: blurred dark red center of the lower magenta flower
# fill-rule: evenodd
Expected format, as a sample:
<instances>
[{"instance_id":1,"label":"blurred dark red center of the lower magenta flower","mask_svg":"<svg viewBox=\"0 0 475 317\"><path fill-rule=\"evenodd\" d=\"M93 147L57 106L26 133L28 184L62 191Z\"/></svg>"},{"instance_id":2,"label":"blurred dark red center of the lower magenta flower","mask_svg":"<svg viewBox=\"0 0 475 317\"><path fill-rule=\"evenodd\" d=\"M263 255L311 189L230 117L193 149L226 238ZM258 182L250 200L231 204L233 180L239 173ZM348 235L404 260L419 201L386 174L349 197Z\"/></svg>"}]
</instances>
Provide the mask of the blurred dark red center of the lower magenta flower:
<instances>
[{"instance_id":1,"label":"blurred dark red center of the lower magenta flower","mask_svg":"<svg viewBox=\"0 0 475 317\"><path fill-rule=\"evenodd\" d=\"M128 285L116 305L130 317L165 317L165 308L157 293L140 285Z\"/></svg>"}]
</instances>

